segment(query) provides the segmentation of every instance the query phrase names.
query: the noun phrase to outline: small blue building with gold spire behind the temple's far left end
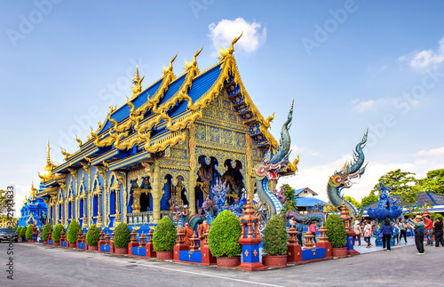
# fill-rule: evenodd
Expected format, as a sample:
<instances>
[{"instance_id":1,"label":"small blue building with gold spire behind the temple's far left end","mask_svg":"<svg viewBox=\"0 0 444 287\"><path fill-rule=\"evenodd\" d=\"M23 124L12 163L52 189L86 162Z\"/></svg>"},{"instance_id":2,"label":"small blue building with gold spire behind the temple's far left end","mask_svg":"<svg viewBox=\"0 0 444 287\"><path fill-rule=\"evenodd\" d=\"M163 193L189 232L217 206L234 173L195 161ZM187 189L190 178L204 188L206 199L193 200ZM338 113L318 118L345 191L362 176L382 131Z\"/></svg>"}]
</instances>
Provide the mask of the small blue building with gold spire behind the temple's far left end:
<instances>
[{"instance_id":1,"label":"small blue building with gold spire behind the temple's far left end","mask_svg":"<svg viewBox=\"0 0 444 287\"><path fill-rule=\"evenodd\" d=\"M34 187L33 182L29 198L25 196L23 205L20 208L19 227L28 226L29 224L36 225L36 227L43 227L48 207L46 203L44 203L44 199L36 197L36 194L37 189Z\"/></svg>"}]
</instances>

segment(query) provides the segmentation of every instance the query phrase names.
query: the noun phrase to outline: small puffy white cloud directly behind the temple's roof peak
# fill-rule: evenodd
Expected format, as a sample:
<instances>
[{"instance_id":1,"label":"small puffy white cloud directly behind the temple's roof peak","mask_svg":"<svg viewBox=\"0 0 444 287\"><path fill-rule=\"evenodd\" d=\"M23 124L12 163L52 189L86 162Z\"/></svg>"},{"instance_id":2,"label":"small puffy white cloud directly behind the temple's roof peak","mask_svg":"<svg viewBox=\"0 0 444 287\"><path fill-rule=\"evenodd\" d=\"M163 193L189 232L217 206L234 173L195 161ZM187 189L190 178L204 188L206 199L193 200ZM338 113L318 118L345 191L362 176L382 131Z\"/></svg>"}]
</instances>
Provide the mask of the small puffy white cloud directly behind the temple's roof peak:
<instances>
[{"instance_id":1,"label":"small puffy white cloud directly behind the temple's roof peak","mask_svg":"<svg viewBox=\"0 0 444 287\"><path fill-rule=\"evenodd\" d=\"M262 28L262 25L256 21L251 23L247 22L243 18L237 18L236 20L220 20L218 24L211 23L210 39L218 52L218 45L221 48L227 48L233 39L243 31L241 39L235 44L235 48L245 52L255 52L261 44L266 42L266 28Z\"/></svg>"}]
</instances>

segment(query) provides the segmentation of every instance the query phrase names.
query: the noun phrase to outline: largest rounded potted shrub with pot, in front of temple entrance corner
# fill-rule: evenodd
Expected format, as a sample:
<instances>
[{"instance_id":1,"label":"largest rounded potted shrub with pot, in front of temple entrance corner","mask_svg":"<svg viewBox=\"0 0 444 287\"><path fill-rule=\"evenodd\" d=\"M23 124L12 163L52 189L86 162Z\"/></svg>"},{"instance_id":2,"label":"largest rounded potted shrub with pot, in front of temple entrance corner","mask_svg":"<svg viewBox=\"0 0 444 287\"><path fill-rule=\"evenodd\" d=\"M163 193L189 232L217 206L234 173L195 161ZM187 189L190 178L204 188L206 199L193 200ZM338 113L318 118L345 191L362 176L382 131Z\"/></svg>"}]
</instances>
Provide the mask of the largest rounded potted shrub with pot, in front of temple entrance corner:
<instances>
[{"instance_id":1,"label":"largest rounded potted shrub with pot, in front of temple entrance corner","mask_svg":"<svg viewBox=\"0 0 444 287\"><path fill-rule=\"evenodd\" d=\"M241 264L241 222L232 211L222 211L213 220L208 234L210 251L218 267L237 267Z\"/></svg>"}]
</instances>

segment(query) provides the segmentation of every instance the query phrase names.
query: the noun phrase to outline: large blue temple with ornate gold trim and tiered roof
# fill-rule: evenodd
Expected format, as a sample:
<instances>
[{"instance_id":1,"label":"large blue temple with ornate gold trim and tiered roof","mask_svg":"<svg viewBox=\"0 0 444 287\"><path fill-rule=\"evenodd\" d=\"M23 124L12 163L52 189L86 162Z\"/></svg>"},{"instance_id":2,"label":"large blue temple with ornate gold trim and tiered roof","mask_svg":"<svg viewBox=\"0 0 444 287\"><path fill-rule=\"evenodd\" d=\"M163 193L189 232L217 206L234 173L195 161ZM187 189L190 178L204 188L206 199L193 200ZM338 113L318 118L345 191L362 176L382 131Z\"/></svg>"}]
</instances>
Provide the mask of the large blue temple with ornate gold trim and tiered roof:
<instances>
[{"instance_id":1,"label":"large blue temple with ornate gold trim and tiered roof","mask_svg":"<svg viewBox=\"0 0 444 287\"><path fill-rule=\"evenodd\" d=\"M36 196L53 224L78 220L83 228L113 230L125 222L141 231L165 216L178 222L200 212L216 179L228 183L228 202L242 198L243 188L252 198L251 171L278 143L267 130L273 116L259 113L233 52L220 51L203 71L196 52L178 76L176 55L145 89L136 68L131 99L110 107L103 124L77 139L78 150L62 149L65 161L55 165L48 149ZM289 163L288 173L295 170Z\"/></svg>"}]
</instances>

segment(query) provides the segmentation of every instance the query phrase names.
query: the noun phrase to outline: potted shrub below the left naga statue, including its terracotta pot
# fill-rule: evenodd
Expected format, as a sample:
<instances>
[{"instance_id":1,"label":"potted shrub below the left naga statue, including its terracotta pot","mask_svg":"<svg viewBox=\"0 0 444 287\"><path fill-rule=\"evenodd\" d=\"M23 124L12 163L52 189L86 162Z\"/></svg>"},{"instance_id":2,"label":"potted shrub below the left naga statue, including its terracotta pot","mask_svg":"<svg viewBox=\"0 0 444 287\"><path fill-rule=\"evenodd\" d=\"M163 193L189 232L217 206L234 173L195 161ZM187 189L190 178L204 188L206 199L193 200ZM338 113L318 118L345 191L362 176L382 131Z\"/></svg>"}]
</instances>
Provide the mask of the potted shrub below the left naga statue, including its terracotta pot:
<instances>
[{"instance_id":1,"label":"potted shrub below the left naga statue, including its terracotta pot","mask_svg":"<svg viewBox=\"0 0 444 287\"><path fill-rule=\"evenodd\" d=\"M267 267L287 267L287 223L278 214L266 223L262 264Z\"/></svg>"}]
</instances>

